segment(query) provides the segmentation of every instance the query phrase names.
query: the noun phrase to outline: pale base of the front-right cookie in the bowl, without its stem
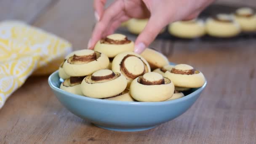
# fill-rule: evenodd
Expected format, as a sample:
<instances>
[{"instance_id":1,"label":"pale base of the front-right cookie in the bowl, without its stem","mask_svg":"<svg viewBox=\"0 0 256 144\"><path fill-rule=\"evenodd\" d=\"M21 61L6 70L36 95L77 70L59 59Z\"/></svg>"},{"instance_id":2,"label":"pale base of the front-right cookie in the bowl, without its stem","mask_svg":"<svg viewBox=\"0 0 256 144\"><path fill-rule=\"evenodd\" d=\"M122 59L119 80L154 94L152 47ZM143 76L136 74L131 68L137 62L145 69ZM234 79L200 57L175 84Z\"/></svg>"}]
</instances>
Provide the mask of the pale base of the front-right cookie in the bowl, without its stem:
<instances>
[{"instance_id":1,"label":"pale base of the front-right cookie in the bowl, without its stem","mask_svg":"<svg viewBox=\"0 0 256 144\"><path fill-rule=\"evenodd\" d=\"M137 101L165 101L174 93L173 83L163 85L142 85L134 79L130 86L130 94Z\"/></svg>"}]
</instances>

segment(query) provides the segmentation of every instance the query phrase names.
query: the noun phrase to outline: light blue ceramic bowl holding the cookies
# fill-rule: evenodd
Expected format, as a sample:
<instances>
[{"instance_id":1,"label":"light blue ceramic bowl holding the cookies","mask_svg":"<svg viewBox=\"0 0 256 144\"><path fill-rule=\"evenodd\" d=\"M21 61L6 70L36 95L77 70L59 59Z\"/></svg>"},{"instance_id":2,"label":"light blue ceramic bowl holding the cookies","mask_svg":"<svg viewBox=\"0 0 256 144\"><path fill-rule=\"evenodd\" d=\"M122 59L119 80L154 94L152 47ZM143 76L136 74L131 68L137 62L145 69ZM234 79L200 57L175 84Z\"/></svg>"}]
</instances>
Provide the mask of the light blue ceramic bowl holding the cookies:
<instances>
[{"instance_id":1,"label":"light blue ceramic bowl holding the cookies","mask_svg":"<svg viewBox=\"0 0 256 144\"><path fill-rule=\"evenodd\" d=\"M112 131L144 131L173 120L195 103L205 88L192 89L187 96L172 101L128 102L94 99L59 88L58 71L48 79L53 93L70 112L94 125Z\"/></svg>"}]
</instances>

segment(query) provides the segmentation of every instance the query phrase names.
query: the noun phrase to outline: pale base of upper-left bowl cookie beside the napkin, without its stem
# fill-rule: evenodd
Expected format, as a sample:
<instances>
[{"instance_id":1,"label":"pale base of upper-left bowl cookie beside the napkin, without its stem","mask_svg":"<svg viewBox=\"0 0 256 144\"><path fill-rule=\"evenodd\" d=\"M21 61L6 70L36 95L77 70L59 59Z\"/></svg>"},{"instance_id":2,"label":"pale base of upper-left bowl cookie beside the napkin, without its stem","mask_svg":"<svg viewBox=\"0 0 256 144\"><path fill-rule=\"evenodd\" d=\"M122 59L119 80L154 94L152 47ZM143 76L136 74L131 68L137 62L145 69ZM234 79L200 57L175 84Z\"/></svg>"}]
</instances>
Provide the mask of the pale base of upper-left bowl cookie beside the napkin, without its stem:
<instances>
[{"instance_id":1,"label":"pale base of upper-left bowl cookie beside the napkin, without its stem","mask_svg":"<svg viewBox=\"0 0 256 144\"><path fill-rule=\"evenodd\" d=\"M72 77L80 77L84 75L91 75L93 72L96 72L100 69L106 69L109 65L109 58L101 53L101 56L87 64L69 64L67 61L63 64L63 69Z\"/></svg>"}]
</instances>

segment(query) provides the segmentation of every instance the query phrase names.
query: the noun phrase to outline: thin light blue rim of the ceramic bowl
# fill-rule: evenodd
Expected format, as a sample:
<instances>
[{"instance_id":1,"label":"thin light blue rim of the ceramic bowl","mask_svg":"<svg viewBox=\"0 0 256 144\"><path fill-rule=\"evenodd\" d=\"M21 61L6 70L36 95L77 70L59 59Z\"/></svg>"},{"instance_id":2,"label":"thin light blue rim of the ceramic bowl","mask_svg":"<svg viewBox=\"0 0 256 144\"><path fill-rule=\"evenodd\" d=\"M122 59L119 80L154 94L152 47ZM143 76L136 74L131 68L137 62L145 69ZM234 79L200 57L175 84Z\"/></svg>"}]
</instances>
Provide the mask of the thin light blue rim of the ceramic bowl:
<instances>
[{"instance_id":1,"label":"thin light blue rim of the ceramic bowl","mask_svg":"<svg viewBox=\"0 0 256 144\"><path fill-rule=\"evenodd\" d=\"M56 86L53 85L52 82L52 77L58 75L59 70L56 70L53 72L49 77L48 77L48 84L50 85L51 89L53 91L57 91L61 93L62 96L69 96L74 99L80 99L80 100L86 100L86 101L93 101L93 102L100 102L100 103L105 103L105 104L120 104L120 105L168 105L168 104L173 104L173 103L179 103L182 101L186 101L187 99L190 99L194 96L197 96L203 89L206 87L207 81L205 80L205 83L203 84L202 87L198 88L196 91L182 97L179 99L174 99L171 101L157 101L157 102L141 102L141 101L112 101L112 100L107 100L107 99L96 99L96 98L91 98L87 96L80 96L77 94L69 93L67 91L61 90L60 88L57 88ZM59 75L58 75L59 77Z\"/></svg>"}]
</instances>

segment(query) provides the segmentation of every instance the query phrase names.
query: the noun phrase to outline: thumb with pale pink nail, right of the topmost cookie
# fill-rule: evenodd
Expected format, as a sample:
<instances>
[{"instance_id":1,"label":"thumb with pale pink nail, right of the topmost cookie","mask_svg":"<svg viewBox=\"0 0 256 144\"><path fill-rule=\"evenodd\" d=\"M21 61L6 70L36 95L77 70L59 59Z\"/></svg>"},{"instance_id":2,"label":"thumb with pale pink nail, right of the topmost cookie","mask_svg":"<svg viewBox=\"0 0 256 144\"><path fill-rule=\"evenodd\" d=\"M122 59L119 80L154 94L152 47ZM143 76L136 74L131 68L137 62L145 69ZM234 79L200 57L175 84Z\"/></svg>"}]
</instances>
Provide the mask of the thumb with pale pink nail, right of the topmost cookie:
<instances>
[{"instance_id":1,"label":"thumb with pale pink nail, right of the topmost cookie","mask_svg":"<svg viewBox=\"0 0 256 144\"><path fill-rule=\"evenodd\" d=\"M150 17L146 27L139 34L135 41L135 53L142 53L150 43L155 40L155 37L159 34L159 32L165 27L164 22L160 22L163 19L161 16Z\"/></svg>"}]
</instances>

